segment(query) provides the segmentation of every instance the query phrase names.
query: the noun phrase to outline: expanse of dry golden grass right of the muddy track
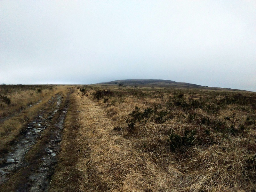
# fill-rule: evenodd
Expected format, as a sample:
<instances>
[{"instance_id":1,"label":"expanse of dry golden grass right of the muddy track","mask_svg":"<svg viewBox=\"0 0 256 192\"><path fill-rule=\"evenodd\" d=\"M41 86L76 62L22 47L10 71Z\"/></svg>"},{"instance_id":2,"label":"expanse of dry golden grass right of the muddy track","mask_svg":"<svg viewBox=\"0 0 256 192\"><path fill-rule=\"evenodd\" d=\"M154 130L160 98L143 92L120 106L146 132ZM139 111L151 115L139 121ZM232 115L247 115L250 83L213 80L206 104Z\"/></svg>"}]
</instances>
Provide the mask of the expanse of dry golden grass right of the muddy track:
<instances>
[{"instance_id":1,"label":"expanse of dry golden grass right of the muddy track","mask_svg":"<svg viewBox=\"0 0 256 192\"><path fill-rule=\"evenodd\" d=\"M255 93L239 92L251 98L240 104L244 97L238 95L236 100L238 92L108 89L113 94L99 100L94 99L95 92L104 87L76 95L80 134L76 140L79 160L74 166L81 175L80 191L256 190L255 122L246 120L255 120ZM195 100L202 106L180 107L179 102ZM158 106L157 111L166 114L161 122L156 113L128 129L125 117L136 106L142 111ZM186 139L186 130L196 130L195 138L184 145L176 143L174 149L171 136Z\"/></svg>"}]
</instances>

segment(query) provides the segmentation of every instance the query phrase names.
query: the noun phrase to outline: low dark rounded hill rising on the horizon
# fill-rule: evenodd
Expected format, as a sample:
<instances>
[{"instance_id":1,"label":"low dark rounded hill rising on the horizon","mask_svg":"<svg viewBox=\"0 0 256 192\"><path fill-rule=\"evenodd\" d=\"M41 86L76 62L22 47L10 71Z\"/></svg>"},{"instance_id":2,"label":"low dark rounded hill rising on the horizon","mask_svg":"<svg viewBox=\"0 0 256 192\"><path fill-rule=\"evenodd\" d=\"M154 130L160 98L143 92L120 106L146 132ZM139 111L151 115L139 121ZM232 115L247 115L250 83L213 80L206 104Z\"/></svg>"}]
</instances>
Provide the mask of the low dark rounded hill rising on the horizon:
<instances>
[{"instance_id":1,"label":"low dark rounded hill rising on the horizon","mask_svg":"<svg viewBox=\"0 0 256 192\"><path fill-rule=\"evenodd\" d=\"M162 79L127 79L127 80L116 80L110 82L99 83L104 85L123 84L124 86L148 86L148 87L173 87L173 88L204 88L204 86L181 83L170 80Z\"/></svg>"}]
</instances>

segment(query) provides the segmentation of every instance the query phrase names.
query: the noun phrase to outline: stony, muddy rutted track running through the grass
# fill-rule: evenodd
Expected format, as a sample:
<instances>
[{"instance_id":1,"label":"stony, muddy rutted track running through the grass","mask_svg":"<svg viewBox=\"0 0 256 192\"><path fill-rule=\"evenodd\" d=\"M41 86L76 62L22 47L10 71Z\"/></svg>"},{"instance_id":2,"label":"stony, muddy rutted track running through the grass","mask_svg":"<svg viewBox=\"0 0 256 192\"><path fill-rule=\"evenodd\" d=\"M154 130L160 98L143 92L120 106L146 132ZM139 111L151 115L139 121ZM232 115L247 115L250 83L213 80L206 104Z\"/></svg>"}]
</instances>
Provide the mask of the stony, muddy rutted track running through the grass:
<instances>
[{"instance_id":1,"label":"stony, muddy rutted track running through the grass","mask_svg":"<svg viewBox=\"0 0 256 192\"><path fill-rule=\"evenodd\" d=\"M67 95L52 98L54 107L39 111L12 150L0 156L0 191L47 191L58 162Z\"/></svg>"}]
</instances>

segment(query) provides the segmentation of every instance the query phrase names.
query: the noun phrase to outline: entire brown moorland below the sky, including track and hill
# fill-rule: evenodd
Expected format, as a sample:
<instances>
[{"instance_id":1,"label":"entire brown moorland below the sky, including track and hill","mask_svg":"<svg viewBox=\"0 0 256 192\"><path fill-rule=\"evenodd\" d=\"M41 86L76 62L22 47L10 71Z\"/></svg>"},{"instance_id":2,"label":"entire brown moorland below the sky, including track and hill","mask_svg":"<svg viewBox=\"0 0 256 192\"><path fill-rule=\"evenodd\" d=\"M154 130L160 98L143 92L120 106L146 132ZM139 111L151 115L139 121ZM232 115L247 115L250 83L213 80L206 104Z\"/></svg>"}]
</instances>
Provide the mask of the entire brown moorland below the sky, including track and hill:
<instances>
[{"instance_id":1,"label":"entire brown moorland below the sky, including track and hill","mask_svg":"<svg viewBox=\"0 0 256 192\"><path fill-rule=\"evenodd\" d=\"M255 191L256 93L0 85L0 191Z\"/></svg>"}]
</instances>

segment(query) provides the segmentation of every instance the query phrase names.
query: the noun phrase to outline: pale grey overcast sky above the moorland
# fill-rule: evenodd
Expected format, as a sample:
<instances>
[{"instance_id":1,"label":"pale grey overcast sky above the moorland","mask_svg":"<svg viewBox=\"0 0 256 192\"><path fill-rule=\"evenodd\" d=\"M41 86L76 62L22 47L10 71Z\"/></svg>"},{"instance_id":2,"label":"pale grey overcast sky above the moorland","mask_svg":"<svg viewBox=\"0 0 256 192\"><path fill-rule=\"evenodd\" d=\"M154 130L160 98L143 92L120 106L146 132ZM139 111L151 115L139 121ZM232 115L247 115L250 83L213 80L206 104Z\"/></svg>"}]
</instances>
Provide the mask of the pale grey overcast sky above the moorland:
<instances>
[{"instance_id":1,"label":"pale grey overcast sky above the moorland","mask_svg":"<svg viewBox=\"0 0 256 192\"><path fill-rule=\"evenodd\" d=\"M0 0L0 84L119 79L256 91L256 1Z\"/></svg>"}]
</instances>

